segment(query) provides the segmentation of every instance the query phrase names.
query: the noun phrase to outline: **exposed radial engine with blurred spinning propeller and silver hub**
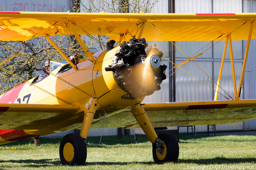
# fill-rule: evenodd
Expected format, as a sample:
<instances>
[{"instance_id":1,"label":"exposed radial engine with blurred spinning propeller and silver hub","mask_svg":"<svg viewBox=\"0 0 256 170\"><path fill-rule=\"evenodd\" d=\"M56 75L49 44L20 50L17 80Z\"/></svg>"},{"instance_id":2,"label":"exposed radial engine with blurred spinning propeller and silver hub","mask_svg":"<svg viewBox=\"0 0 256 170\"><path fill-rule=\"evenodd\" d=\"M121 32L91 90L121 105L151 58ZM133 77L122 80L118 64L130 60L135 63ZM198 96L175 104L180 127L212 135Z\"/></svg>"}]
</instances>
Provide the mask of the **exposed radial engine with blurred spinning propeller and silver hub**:
<instances>
[{"instance_id":1,"label":"exposed radial engine with blurred spinning propeller and silver hub","mask_svg":"<svg viewBox=\"0 0 256 170\"><path fill-rule=\"evenodd\" d=\"M163 53L156 44L148 47L145 38L133 38L129 44L120 47L112 59L112 65L105 67L105 70L112 71L116 83L127 92L121 98L139 99L160 90L160 84L166 79L167 66L160 65Z\"/></svg>"}]
</instances>

